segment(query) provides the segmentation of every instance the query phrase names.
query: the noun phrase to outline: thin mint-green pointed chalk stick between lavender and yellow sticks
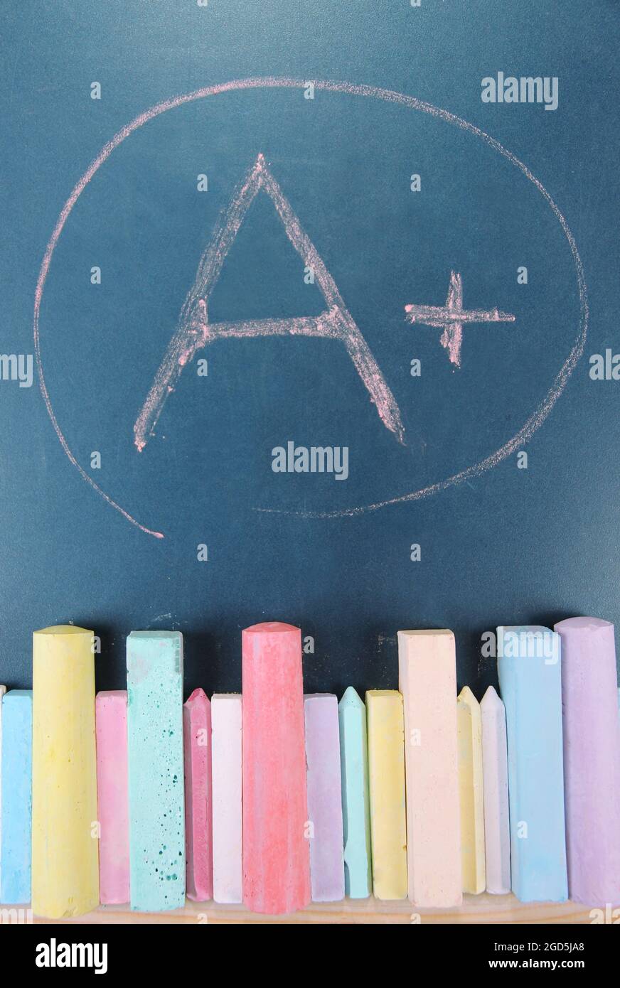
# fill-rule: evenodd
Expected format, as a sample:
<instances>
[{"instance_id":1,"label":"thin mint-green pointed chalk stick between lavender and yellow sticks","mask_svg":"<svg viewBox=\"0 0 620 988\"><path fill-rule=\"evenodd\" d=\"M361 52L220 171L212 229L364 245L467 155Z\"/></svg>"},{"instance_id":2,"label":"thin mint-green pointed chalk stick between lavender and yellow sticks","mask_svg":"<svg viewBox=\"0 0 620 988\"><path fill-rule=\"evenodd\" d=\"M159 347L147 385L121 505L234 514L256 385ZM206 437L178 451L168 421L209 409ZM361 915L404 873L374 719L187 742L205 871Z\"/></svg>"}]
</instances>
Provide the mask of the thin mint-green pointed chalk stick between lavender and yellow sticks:
<instances>
[{"instance_id":1,"label":"thin mint-green pointed chalk stick between lavender and yellow sticks","mask_svg":"<svg viewBox=\"0 0 620 988\"><path fill-rule=\"evenodd\" d=\"M351 686L338 703L338 722L342 772L344 888L350 898L365 899L373 890L366 706Z\"/></svg>"}]
</instances>

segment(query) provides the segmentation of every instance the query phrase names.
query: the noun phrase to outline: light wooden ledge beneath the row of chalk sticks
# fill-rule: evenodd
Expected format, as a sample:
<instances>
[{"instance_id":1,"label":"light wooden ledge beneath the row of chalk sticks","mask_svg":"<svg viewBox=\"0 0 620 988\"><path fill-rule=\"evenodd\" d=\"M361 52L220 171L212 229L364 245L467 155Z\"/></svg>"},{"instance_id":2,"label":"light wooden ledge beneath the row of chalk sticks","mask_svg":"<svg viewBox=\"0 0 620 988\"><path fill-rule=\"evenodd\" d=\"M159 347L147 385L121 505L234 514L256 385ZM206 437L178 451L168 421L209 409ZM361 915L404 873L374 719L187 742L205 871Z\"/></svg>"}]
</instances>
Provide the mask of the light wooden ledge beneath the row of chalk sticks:
<instances>
[{"instance_id":1,"label":"light wooden ledge beneath the row of chalk sticks","mask_svg":"<svg viewBox=\"0 0 620 988\"><path fill-rule=\"evenodd\" d=\"M345 899L310 905L288 916L261 916L243 906L221 906L215 902L186 901L184 909L168 913L136 913L129 906L100 906L86 916L69 920L44 920L35 923L76 924L410 924L420 916L422 925L432 924L519 924L519 923L591 923L590 907L574 902L525 904L513 895L466 895L458 909L415 910L409 902L380 902L377 899Z\"/></svg>"}]
</instances>

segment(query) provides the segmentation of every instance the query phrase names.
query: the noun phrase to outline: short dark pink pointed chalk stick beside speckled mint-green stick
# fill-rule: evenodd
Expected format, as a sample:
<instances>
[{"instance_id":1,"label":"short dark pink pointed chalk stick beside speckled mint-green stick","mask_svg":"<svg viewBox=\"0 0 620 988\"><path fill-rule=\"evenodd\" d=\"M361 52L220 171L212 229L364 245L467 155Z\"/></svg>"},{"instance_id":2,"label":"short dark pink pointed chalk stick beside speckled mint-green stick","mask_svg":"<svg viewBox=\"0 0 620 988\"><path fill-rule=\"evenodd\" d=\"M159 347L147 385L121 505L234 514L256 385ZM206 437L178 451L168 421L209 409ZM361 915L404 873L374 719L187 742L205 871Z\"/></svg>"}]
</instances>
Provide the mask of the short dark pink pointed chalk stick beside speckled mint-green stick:
<instances>
[{"instance_id":1,"label":"short dark pink pointed chalk stick beside speckled mint-green stick","mask_svg":"<svg viewBox=\"0 0 620 988\"><path fill-rule=\"evenodd\" d=\"M207 902L214 894L211 703L203 690L183 704L183 750L187 896Z\"/></svg>"}]
</instances>

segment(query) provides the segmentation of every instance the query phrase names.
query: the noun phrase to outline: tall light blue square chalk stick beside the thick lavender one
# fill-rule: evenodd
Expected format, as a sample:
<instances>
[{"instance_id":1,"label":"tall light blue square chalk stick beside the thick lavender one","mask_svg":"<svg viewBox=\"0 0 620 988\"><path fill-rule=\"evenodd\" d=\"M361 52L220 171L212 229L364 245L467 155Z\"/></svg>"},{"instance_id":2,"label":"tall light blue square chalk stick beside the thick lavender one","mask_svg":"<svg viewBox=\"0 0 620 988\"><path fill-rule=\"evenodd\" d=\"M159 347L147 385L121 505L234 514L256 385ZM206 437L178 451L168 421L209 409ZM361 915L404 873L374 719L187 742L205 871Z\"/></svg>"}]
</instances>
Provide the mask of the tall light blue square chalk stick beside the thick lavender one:
<instances>
[{"instance_id":1,"label":"tall light blue square chalk stick beside the thick lavender one","mask_svg":"<svg viewBox=\"0 0 620 988\"><path fill-rule=\"evenodd\" d=\"M564 902L569 896L561 670L555 631L538 625L497 628L512 891L521 902Z\"/></svg>"}]
</instances>

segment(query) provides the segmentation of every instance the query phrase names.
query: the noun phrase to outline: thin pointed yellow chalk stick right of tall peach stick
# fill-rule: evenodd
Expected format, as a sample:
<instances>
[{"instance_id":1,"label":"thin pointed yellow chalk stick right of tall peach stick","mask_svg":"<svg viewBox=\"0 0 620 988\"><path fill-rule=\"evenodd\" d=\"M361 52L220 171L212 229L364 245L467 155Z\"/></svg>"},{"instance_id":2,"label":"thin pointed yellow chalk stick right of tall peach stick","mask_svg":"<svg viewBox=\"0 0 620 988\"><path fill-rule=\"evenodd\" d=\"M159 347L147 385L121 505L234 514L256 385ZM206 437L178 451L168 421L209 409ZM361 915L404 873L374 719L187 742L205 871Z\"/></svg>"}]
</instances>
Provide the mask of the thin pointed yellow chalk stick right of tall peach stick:
<instances>
[{"instance_id":1,"label":"thin pointed yellow chalk stick right of tall peach stick","mask_svg":"<svg viewBox=\"0 0 620 988\"><path fill-rule=\"evenodd\" d=\"M461 690L457 699L457 732L463 891L478 895L485 891L487 884L483 719L480 703L468 686Z\"/></svg>"}]
</instances>

